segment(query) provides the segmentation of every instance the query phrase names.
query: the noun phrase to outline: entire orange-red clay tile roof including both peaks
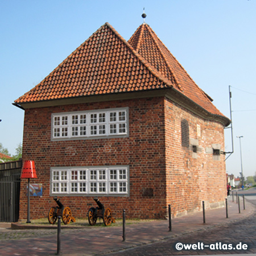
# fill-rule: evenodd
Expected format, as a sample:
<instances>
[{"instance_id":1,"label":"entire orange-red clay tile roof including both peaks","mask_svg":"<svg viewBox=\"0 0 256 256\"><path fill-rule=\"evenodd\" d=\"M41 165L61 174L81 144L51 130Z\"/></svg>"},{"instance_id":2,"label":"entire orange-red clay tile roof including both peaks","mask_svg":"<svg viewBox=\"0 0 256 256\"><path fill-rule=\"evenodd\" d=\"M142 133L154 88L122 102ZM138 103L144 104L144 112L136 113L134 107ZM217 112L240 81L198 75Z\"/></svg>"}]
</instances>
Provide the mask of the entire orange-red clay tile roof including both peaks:
<instances>
[{"instance_id":1,"label":"entire orange-red clay tile roof including both peaks","mask_svg":"<svg viewBox=\"0 0 256 256\"><path fill-rule=\"evenodd\" d=\"M147 24L126 42L105 23L16 104L174 88L212 114L221 112Z\"/></svg>"}]
</instances>

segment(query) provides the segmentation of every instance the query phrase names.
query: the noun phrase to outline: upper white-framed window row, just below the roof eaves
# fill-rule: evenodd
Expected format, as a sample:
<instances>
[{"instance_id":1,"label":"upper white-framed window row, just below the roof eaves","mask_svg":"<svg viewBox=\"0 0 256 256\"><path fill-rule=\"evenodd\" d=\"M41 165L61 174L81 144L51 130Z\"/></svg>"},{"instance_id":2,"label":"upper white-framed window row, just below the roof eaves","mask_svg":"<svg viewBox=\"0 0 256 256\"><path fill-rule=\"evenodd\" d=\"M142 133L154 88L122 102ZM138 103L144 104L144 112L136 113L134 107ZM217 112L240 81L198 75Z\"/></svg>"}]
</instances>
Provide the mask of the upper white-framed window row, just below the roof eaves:
<instances>
[{"instance_id":1,"label":"upper white-framed window row, just below the roof eaves","mask_svg":"<svg viewBox=\"0 0 256 256\"><path fill-rule=\"evenodd\" d=\"M128 135L128 108L52 114L52 139Z\"/></svg>"}]
</instances>

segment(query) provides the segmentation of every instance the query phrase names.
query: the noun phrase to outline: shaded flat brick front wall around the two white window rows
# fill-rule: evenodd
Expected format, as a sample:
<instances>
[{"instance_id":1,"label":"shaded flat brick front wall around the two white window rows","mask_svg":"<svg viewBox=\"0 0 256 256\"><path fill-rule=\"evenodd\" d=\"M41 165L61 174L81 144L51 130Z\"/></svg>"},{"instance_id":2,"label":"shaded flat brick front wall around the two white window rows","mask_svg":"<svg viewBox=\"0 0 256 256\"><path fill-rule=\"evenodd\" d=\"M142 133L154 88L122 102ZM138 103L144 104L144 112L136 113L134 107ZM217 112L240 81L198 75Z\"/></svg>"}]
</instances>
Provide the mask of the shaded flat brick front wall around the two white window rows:
<instances>
[{"instance_id":1,"label":"shaded flat brick front wall around the two white window rows","mask_svg":"<svg viewBox=\"0 0 256 256\"><path fill-rule=\"evenodd\" d=\"M129 138L81 139L51 141L51 114L81 110L125 108L129 106ZM47 217L55 206L49 196L51 167L69 166L129 166L130 197L102 197L115 217L126 209L129 218L162 218L166 214L164 160L164 99L145 98L115 102L100 102L52 108L27 109L24 120L23 160L34 160L38 179L43 184L43 196L31 197L32 218ZM20 193L20 218L27 216L27 180ZM151 189L154 196L143 195ZM93 196L61 196L61 203L72 210L74 217L85 218L95 206Z\"/></svg>"}]
</instances>

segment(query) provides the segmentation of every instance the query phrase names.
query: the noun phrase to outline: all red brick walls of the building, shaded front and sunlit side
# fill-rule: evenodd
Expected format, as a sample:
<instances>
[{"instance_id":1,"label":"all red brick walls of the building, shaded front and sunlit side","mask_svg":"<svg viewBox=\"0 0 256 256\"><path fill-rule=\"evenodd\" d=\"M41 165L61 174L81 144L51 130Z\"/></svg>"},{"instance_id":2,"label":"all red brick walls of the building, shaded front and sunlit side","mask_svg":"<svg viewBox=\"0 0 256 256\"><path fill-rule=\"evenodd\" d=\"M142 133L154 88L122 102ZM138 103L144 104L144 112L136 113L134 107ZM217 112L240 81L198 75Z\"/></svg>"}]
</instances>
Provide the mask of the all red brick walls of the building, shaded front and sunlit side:
<instances>
[{"instance_id":1,"label":"all red brick walls of the building, shaded front and sunlit side","mask_svg":"<svg viewBox=\"0 0 256 256\"><path fill-rule=\"evenodd\" d=\"M129 106L129 137L51 141L51 114L81 110L126 108ZM181 120L187 119L190 138L199 139L200 152L192 157L190 148L181 146ZM197 124L201 136L197 136ZM165 134L166 133L166 134ZM23 160L34 160L38 179L43 184L43 196L31 197L31 219L47 217L56 203L49 196L51 167L129 166L130 196L101 197L114 217L163 218L167 205L176 216L201 207L219 204L226 196L224 156L213 160L205 147L221 143L224 150L223 126L204 121L195 114L172 104L164 97L114 102L99 102L27 109L24 120ZM167 180L167 181L166 181ZM22 180L20 218L27 217L27 180ZM144 195L150 189L153 196ZM61 196L61 203L73 216L85 218L96 204L93 196Z\"/></svg>"}]
</instances>

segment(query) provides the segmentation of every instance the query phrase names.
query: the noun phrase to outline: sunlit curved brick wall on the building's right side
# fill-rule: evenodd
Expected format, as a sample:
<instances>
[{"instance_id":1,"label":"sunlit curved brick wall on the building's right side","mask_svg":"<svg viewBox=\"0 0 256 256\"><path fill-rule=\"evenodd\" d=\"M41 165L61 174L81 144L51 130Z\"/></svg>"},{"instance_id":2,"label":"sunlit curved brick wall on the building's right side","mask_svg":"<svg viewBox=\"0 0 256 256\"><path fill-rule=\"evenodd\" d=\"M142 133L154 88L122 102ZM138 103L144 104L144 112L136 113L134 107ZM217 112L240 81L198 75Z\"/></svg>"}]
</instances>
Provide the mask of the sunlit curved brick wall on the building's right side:
<instances>
[{"instance_id":1,"label":"sunlit curved brick wall on the building's right side","mask_svg":"<svg viewBox=\"0 0 256 256\"><path fill-rule=\"evenodd\" d=\"M182 119L188 121L190 140L198 139L197 158L193 158L191 147L181 146ZM174 216L199 210L202 201L207 208L224 204L224 155L213 160L213 154L205 152L212 144L221 144L221 150L225 151L224 127L218 122L205 121L170 100L165 101L165 122L167 204L171 204Z\"/></svg>"}]
</instances>

